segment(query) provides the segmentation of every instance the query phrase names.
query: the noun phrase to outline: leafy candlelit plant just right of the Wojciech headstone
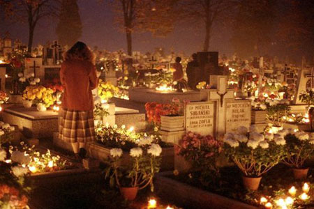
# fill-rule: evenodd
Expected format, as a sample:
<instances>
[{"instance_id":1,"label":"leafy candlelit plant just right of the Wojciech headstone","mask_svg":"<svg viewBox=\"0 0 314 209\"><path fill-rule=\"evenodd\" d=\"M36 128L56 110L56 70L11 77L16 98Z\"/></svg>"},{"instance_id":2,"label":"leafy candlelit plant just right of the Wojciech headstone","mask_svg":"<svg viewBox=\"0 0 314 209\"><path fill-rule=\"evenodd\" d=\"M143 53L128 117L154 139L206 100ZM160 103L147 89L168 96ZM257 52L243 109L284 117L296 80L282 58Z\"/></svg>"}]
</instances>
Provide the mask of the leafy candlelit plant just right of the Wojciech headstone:
<instances>
[{"instance_id":1,"label":"leafy candlelit plant just right of the Wojciech headstone","mask_svg":"<svg viewBox=\"0 0 314 209\"><path fill-rule=\"evenodd\" d=\"M290 114L290 106L287 100L266 100L267 104L267 121L272 124L274 133L283 127Z\"/></svg>"}]
</instances>

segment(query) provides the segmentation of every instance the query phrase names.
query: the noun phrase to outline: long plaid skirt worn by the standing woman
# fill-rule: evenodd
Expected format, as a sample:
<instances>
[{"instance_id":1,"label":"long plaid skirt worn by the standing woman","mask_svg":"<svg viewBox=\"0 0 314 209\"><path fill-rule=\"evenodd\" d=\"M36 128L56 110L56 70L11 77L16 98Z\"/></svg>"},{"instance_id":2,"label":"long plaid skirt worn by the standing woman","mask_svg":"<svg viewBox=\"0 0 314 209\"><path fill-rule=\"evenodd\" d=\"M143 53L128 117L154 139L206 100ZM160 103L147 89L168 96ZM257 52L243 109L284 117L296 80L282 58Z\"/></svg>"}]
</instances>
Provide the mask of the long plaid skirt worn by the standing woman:
<instances>
[{"instance_id":1,"label":"long plaid skirt worn by the standing woman","mask_svg":"<svg viewBox=\"0 0 314 209\"><path fill-rule=\"evenodd\" d=\"M95 140L94 112L62 109L59 113L59 139L75 143Z\"/></svg>"}]
</instances>

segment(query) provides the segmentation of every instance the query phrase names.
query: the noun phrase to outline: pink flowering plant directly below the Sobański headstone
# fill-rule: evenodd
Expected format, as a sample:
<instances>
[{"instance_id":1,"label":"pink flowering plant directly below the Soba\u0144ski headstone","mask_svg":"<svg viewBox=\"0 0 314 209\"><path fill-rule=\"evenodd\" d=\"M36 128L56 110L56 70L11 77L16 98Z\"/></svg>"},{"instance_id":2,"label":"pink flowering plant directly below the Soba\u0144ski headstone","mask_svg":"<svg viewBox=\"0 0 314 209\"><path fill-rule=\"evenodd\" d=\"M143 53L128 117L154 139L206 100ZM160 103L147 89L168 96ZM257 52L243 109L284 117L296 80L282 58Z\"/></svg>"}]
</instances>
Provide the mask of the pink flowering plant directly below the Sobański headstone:
<instances>
[{"instance_id":1,"label":"pink flowering plant directly below the Soba\u0144ski headstone","mask_svg":"<svg viewBox=\"0 0 314 209\"><path fill-rule=\"evenodd\" d=\"M184 157L184 160L176 161L176 167L182 171L193 169L202 173L211 172L217 176L219 169L216 160L221 148L221 142L210 135L187 132L176 148L176 154Z\"/></svg>"}]
</instances>

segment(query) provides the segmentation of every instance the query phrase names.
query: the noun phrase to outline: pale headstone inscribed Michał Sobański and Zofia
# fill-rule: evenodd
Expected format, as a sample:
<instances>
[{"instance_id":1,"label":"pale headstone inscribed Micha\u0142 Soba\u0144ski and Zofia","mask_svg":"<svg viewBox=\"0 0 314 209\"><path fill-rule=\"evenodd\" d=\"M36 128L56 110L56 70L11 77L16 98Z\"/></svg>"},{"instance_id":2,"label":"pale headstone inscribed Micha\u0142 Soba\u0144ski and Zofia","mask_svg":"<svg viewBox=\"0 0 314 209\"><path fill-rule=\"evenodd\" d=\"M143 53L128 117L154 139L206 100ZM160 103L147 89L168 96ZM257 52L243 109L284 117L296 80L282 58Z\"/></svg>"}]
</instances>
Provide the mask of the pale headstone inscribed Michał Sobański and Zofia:
<instances>
[{"instance_id":1,"label":"pale headstone inscribed Micha\u0142 Soba\u0144ski and Zofia","mask_svg":"<svg viewBox=\"0 0 314 209\"><path fill-rule=\"evenodd\" d=\"M214 135L215 109L214 102L190 102L186 104L186 131L202 135Z\"/></svg>"}]
</instances>

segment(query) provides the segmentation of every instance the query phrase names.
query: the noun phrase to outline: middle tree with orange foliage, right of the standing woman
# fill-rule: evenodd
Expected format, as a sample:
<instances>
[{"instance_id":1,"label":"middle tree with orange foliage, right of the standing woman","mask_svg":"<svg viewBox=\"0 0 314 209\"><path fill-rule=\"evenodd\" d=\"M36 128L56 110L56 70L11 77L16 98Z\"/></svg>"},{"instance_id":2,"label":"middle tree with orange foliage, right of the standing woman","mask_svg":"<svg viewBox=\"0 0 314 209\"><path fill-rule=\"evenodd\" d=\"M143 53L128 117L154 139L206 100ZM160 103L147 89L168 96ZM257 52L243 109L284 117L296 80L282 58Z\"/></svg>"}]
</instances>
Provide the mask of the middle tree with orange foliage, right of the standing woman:
<instances>
[{"instance_id":1,"label":"middle tree with orange foliage, right of the standing woman","mask_svg":"<svg viewBox=\"0 0 314 209\"><path fill-rule=\"evenodd\" d=\"M134 31L150 31L165 36L173 29L175 15L171 11L178 0L113 0L117 24L126 33L128 55L132 55Z\"/></svg>"}]
</instances>

